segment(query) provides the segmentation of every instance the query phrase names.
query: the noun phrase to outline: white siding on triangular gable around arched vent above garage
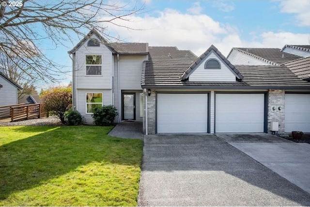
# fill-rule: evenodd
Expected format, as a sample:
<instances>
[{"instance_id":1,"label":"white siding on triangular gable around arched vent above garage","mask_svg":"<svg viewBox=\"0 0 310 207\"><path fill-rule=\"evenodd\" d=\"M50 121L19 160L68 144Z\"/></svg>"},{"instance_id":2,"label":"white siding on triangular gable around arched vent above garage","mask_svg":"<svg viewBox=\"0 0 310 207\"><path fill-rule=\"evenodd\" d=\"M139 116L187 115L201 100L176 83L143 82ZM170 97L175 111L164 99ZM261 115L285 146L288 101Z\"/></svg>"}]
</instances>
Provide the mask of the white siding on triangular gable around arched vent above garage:
<instances>
[{"instance_id":1,"label":"white siding on triangular gable around arched vent above garage","mask_svg":"<svg viewBox=\"0 0 310 207\"><path fill-rule=\"evenodd\" d=\"M204 69L204 64L209 59L217 59L221 69ZM214 53L210 54L189 76L189 81L236 81L232 71Z\"/></svg>"}]
</instances>

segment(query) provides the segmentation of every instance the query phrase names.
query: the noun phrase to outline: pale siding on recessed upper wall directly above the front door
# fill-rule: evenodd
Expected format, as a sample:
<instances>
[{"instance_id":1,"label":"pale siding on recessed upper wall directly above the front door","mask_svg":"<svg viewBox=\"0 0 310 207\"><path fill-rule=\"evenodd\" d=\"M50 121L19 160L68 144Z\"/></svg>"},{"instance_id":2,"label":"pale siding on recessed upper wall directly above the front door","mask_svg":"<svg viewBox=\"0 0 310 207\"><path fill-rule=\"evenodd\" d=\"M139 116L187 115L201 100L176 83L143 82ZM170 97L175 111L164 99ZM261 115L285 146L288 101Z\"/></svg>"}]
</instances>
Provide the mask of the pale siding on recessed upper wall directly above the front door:
<instances>
[{"instance_id":1,"label":"pale siding on recessed upper wall directly above the front door","mask_svg":"<svg viewBox=\"0 0 310 207\"><path fill-rule=\"evenodd\" d=\"M141 73L146 55L120 55L121 90L141 90Z\"/></svg>"}]
</instances>

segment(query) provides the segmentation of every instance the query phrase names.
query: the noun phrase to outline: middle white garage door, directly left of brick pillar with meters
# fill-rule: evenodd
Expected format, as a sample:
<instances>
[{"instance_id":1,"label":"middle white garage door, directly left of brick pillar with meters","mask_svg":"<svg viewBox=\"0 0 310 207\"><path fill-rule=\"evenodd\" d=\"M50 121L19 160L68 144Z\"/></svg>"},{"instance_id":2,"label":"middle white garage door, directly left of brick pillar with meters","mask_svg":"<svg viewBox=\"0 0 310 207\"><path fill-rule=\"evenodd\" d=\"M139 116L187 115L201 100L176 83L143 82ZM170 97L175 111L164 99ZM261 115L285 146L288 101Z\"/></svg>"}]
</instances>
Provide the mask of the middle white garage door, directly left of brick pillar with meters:
<instances>
[{"instance_id":1,"label":"middle white garage door, directly left of brick pillar with meters","mask_svg":"<svg viewBox=\"0 0 310 207\"><path fill-rule=\"evenodd\" d=\"M216 132L263 132L263 94L217 94Z\"/></svg>"}]
</instances>

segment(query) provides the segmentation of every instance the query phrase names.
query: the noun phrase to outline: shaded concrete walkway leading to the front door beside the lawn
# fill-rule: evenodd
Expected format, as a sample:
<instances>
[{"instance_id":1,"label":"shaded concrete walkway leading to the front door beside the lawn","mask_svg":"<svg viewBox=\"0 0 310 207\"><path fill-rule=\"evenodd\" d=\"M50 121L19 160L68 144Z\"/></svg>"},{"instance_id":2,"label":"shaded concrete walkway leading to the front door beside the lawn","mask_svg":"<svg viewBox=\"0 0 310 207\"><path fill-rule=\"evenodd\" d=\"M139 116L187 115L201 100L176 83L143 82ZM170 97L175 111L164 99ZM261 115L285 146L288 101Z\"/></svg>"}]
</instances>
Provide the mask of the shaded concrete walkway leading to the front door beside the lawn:
<instances>
[{"instance_id":1,"label":"shaded concrete walkway leading to the front door beside the lawn","mask_svg":"<svg viewBox=\"0 0 310 207\"><path fill-rule=\"evenodd\" d=\"M109 133L112 137L127 139L143 139L142 122L123 121L118 123Z\"/></svg>"}]
</instances>

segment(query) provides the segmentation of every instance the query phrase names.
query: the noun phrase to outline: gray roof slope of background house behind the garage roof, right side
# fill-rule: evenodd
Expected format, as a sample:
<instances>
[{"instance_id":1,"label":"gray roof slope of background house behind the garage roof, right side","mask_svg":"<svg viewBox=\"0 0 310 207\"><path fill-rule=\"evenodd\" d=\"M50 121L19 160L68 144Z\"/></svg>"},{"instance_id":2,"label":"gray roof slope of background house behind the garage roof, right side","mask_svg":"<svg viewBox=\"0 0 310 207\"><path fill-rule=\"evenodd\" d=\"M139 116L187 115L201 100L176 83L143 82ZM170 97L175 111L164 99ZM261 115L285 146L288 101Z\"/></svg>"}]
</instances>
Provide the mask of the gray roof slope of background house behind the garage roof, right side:
<instances>
[{"instance_id":1,"label":"gray roof slope of background house behind the garage roof, right side","mask_svg":"<svg viewBox=\"0 0 310 207\"><path fill-rule=\"evenodd\" d=\"M286 62L302 58L301 56L282 52L280 48L233 48L233 49L272 65L281 65Z\"/></svg>"}]
</instances>

